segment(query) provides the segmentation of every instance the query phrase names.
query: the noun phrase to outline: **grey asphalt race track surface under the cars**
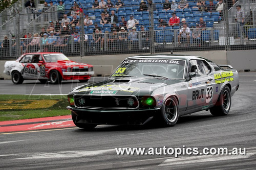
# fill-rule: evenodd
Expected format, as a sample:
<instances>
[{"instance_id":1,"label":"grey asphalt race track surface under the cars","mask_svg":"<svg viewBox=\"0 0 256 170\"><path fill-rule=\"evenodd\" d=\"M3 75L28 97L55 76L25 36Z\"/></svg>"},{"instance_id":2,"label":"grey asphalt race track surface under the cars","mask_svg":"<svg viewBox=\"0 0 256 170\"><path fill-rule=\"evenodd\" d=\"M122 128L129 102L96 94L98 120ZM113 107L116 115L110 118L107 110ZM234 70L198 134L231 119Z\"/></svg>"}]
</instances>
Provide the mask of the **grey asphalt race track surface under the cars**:
<instances>
[{"instance_id":1,"label":"grey asphalt race track surface under the cars","mask_svg":"<svg viewBox=\"0 0 256 170\"><path fill-rule=\"evenodd\" d=\"M0 81L1 93L13 87ZM32 83L31 83L32 84ZM62 84L61 93L73 83ZM8 87L9 86L9 89ZM29 85L30 86L30 85ZM40 84L36 84L41 86ZM58 85L50 85L56 92ZM66 89L67 86L67 89ZM41 94L44 90L38 90ZM27 94L27 90L20 93ZM33 93L35 94L35 92ZM97 126L92 131L76 127L0 133L0 169L255 169L256 73L240 74L240 88L232 97L227 116L209 111L180 117L172 128L157 126ZM117 155L115 148L233 148L246 155ZM147 151L147 150L146 150ZM158 152L159 153L159 152ZM163 152L162 152L163 153Z\"/></svg>"}]
</instances>

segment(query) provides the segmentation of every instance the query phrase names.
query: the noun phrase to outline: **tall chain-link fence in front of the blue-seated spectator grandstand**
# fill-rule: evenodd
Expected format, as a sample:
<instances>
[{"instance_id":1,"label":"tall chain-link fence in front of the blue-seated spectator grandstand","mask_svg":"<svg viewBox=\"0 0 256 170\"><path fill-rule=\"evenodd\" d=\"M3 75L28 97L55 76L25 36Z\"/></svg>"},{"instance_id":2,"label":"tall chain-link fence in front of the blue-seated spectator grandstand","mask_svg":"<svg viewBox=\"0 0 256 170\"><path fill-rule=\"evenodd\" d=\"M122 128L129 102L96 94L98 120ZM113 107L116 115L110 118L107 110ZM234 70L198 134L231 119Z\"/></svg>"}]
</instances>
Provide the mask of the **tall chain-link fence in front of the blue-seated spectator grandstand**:
<instances>
[{"instance_id":1,"label":"tall chain-link fence in front of the blue-seated spectator grandstand","mask_svg":"<svg viewBox=\"0 0 256 170\"><path fill-rule=\"evenodd\" d=\"M169 3L168 9L164 0L155 0L152 5L147 1L122 2L118 8L93 9L94 1L67 0L63 11L58 11L56 2L22 9L0 26L0 59L15 59L29 52L84 56L256 48L255 1L237 2L249 10L243 24L233 19L237 4L229 9L224 5L220 12L209 9L210 3L216 7L217 1L205 1L208 10L197 8L198 1L187 1L188 7L182 10L172 9L174 3ZM179 20L172 25L169 20L175 16ZM135 25L131 19L136 19Z\"/></svg>"}]
</instances>

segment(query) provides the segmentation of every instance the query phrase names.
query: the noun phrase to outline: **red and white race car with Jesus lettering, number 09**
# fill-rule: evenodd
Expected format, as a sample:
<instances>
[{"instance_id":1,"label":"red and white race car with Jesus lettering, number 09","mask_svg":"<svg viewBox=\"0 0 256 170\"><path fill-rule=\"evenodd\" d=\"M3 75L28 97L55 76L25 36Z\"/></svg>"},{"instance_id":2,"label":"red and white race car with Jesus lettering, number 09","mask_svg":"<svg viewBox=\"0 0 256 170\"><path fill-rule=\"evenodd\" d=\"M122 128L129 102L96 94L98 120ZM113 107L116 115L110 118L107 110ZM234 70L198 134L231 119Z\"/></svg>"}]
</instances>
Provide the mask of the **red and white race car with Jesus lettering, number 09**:
<instances>
[{"instance_id":1,"label":"red and white race car with Jesus lettering, number 09","mask_svg":"<svg viewBox=\"0 0 256 170\"><path fill-rule=\"evenodd\" d=\"M94 71L92 65L71 61L62 53L28 53L16 61L7 61L4 74L11 76L14 84L26 79L59 84L62 80L87 82Z\"/></svg>"}]
</instances>

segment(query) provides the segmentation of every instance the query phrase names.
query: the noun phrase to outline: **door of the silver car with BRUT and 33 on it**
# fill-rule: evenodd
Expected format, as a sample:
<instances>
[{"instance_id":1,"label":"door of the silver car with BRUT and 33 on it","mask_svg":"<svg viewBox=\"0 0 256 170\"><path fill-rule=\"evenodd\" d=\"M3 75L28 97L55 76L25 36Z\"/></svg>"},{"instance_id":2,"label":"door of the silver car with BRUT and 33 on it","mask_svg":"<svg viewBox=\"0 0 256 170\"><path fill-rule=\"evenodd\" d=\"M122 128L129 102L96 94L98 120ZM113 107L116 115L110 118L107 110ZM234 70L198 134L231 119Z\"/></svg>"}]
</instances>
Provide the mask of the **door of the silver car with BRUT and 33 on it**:
<instances>
[{"instance_id":1,"label":"door of the silver car with BRUT and 33 on it","mask_svg":"<svg viewBox=\"0 0 256 170\"><path fill-rule=\"evenodd\" d=\"M191 67L196 68L191 70ZM186 113L203 110L212 99L212 79L208 76L210 70L205 69L203 60L190 60L187 75L195 72L195 76L186 82L188 88Z\"/></svg>"}]
</instances>

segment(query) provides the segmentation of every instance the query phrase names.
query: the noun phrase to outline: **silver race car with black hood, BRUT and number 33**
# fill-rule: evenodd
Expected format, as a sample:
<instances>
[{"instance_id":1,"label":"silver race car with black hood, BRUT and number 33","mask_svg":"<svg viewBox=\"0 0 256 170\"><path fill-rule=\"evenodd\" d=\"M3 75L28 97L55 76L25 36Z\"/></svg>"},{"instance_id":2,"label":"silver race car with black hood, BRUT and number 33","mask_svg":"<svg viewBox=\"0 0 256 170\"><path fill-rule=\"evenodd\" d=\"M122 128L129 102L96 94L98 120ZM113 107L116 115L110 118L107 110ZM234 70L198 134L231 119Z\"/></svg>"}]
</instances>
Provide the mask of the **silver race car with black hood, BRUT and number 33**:
<instances>
[{"instance_id":1,"label":"silver race car with black hood, BRUT and number 33","mask_svg":"<svg viewBox=\"0 0 256 170\"><path fill-rule=\"evenodd\" d=\"M85 129L144 125L152 119L174 126L180 116L201 110L227 115L238 79L232 66L202 57L134 56L126 58L108 80L73 89L67 109L74 124Z\"/></svg>"}]
</instances>

